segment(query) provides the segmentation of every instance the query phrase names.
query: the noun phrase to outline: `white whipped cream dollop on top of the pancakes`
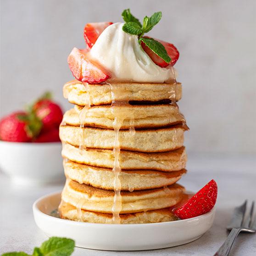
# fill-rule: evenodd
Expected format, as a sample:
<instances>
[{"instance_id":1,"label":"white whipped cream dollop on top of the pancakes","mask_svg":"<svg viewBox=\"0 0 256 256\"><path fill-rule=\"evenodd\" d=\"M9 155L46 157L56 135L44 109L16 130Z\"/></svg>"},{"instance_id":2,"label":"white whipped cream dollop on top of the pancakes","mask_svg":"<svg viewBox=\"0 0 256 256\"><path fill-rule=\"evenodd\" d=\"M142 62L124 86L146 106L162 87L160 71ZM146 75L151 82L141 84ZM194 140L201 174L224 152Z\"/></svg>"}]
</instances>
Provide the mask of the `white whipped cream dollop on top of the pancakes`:
<instances>
[{"instance_id":1,"label":"white whipped cream dollop on top of the pancakes","mask_svg":"<svg viewBox=\"0 0 256 256\"><path fill-rule=\"evenodd\" d=\"M124 23L114 23L99 36L90 57L111 72L109 81L168 83L175 79L173 67L157 66L139 45L138 37L122 30Z\"/></svg>"}]
</instances>

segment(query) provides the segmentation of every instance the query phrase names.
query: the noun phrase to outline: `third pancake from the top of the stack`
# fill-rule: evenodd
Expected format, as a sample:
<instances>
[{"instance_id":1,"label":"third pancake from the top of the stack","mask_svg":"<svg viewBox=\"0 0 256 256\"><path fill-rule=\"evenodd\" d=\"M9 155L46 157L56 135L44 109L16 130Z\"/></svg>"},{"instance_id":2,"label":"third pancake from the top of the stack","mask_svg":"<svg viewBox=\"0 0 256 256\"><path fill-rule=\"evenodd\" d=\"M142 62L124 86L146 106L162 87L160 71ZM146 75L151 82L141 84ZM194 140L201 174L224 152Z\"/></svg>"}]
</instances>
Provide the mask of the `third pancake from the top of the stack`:
<instances>
[{"instance_id":1,"label":"third pancake from the top of the stack","mask_svg":"<svg viewBox=\"0 0 256 256\"><path fill-rule=\"evenodd\" d=\"M121 150L137 152L166 152L182 147L184 126L136 130L120 130L118 140ZM60 126L60 139L68 144L86 148L112 149L115 131L112 129L80 128L77 126Z\"/></svg>"}]
</instances>

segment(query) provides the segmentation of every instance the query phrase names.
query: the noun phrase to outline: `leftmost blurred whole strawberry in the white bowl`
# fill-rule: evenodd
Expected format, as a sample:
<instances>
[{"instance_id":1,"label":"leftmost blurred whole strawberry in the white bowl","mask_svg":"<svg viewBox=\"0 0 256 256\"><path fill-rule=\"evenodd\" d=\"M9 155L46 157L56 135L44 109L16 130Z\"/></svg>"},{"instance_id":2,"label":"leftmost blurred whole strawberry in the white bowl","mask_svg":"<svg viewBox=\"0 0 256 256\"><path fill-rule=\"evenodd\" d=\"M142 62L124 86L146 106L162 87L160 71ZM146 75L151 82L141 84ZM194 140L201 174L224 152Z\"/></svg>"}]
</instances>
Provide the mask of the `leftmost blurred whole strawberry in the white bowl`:
<instances>
[{"instance_id":1,"label":"leftmost blurred whole strawberry in the white bowl","mask_svg":"<svg viewBox=\"0 0 256 256\"><path fill-rule=\"evenodd\" d=\"M34 114L24 111L14 112L0 121L0 139L5 141L29 142L42 127Z\"/></svg>"}]
</instances>

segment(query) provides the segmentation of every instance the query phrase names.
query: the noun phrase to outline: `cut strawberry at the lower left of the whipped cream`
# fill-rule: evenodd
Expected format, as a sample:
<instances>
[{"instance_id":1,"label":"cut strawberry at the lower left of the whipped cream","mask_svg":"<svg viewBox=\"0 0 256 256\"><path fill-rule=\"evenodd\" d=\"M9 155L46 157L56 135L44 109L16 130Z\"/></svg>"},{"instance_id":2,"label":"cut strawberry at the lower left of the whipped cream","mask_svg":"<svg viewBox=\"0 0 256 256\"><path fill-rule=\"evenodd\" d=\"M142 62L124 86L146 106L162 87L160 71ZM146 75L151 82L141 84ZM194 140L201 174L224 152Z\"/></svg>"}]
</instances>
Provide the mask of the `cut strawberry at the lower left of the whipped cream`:
<instances>
[{"instance_id":1,"label":"cut strawberry at the lower left of the whipped cream","mask_svg":"<svg viewBox=\"0 0 256 256\"><path fill-rule=\"evenodd\" d=\"M103 68L86 59L87 50L74 48L67 58L73 76L86 83L102 83L109 78Z\"/></svg>"}]
</instances>

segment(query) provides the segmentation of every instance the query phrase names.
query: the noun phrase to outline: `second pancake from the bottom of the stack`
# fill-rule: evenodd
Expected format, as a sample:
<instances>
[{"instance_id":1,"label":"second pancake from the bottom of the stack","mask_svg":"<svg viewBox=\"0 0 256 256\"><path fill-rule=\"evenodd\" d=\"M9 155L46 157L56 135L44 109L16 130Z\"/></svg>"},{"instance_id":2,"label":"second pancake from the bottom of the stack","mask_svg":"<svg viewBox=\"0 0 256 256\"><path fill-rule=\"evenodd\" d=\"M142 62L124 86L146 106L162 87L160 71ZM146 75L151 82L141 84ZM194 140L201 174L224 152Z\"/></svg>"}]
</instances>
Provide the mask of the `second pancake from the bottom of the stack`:
<instances>
[{"instance_id":1,"label":"second pancake from the bottom of the stack","mask_svg":"<svg viewBox=\"0 0 256 256\"><path fill-rule=\"evenodd\" d=\"M174 206L182 200L184 191L184 187L179 184L160 189L121 191L122 210L120 213L150 211ZM61 199L83 210L111 214L114 195L114 191L97 189L67 179Z\"/></svg>"}]
</instances>

